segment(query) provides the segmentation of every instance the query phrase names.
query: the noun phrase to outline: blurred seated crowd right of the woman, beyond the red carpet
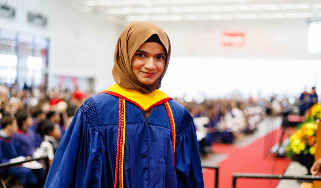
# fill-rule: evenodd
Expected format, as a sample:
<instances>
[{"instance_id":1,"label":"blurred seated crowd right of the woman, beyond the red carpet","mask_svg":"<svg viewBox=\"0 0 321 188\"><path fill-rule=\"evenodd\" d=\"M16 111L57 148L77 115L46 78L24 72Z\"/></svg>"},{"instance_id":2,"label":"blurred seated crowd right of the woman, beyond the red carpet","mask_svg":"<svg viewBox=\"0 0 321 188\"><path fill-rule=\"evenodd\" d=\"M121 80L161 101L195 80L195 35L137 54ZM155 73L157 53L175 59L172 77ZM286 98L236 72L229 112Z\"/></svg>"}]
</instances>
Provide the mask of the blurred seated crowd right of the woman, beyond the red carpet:
<instances>
[{"instance_id":1,"label":"blurred seated crowd right of the woman, beyond the red carpet","mask_svg":"<svg viewBox=\"0 0 321 188\"><path fill-rule=\"evenodd\" d=\"M197 139L202 155L212 152L213 142L233 143L257 130L257 125L267 116L280 115L286 108L293 108L288 98L250 97L248 99L209 99L198 104L176 100L186 107L194 118Z\"/></svg>"}]
</instances>

